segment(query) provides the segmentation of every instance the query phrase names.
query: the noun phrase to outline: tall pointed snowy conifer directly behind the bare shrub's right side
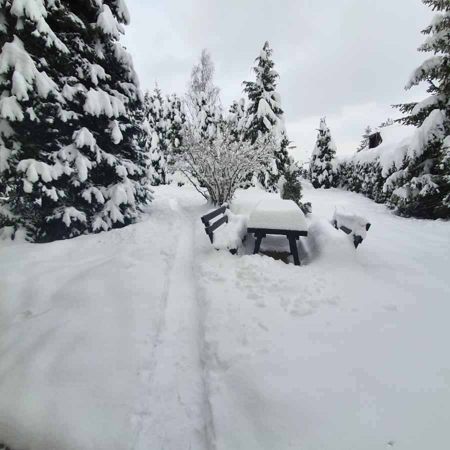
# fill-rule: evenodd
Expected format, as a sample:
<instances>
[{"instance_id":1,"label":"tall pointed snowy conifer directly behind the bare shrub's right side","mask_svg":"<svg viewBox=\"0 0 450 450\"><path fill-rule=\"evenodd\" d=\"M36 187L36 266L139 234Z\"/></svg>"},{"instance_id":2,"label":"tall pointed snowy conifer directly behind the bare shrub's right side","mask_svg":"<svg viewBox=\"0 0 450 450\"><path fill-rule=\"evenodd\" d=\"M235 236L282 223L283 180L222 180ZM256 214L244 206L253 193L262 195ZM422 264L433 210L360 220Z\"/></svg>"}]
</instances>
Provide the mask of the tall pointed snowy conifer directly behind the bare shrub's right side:
<instances>
[{"instance_id":1,"label":"tall pointed snowy conifer directly behind the bare shrub's right side","mask_svg":"<svg viewBox=\"0 0 450 450\"><path fill-rule=\"evenodd\" d=\"M273 50L268 42L264 43L259 56L254 60L253 67L256 81L244 81L244 92L248 95L247 121L245 124L245 139L254 143L261 134L271 133L278 141L273 150L273 158L258 174L259 182L269 192L277 190L277 181L289 166L287 153L286 127L284 126L281 97L275 90L276 79L279 78L275 63L270 59Z\"/></svg>"}]
</instances>

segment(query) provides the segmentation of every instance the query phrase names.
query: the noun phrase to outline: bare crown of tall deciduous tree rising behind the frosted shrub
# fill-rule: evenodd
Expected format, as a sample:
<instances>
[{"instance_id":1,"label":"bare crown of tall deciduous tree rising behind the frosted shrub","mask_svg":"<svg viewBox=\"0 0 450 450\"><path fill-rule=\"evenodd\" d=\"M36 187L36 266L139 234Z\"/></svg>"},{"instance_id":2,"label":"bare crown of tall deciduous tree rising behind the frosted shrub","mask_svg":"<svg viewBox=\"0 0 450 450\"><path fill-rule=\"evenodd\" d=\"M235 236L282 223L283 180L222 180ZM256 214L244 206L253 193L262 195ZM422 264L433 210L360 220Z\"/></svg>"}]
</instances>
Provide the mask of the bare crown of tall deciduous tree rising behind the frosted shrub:
<instances>
[{"instance_id":1,"label":"bare crown of tall deciduous tree rising behind the frosted shrub","mask_svg":"<svg viewBox=\"0 0 450 450\"><path fill-rule=\"evenodd\" d=\"M203 48L198 58L198 63L192 66L190 80L186 84L185 109L190 119L196 115L196 93L204 92L211 111L220 105L220 88L214 84L215 67L211 59L211 53Z\"/></svg>"}]
</instances>

